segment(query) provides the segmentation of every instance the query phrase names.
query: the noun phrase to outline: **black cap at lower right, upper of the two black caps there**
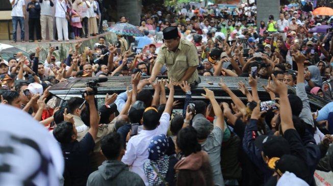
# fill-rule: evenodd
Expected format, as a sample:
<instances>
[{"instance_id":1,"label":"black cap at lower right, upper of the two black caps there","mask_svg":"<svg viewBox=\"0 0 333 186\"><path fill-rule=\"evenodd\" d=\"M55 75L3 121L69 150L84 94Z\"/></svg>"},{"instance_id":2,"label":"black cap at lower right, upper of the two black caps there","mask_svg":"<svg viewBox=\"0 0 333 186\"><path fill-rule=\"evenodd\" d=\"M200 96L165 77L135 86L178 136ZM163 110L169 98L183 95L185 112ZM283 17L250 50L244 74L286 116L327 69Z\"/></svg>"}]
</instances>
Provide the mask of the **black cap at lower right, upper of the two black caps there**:
<instances>
[{"instance_id":1,"label":"black cap at lower right, upper of the two black caps there","mask_svg":"<svg viewBox=\"0 0 333 186\"><path fill-rule=\"evenodd\" d=\"M290 153L289 143L282 136L261 135L255 138L254 145L269 158L282 157Z\"/></svg>"}]
</instances>

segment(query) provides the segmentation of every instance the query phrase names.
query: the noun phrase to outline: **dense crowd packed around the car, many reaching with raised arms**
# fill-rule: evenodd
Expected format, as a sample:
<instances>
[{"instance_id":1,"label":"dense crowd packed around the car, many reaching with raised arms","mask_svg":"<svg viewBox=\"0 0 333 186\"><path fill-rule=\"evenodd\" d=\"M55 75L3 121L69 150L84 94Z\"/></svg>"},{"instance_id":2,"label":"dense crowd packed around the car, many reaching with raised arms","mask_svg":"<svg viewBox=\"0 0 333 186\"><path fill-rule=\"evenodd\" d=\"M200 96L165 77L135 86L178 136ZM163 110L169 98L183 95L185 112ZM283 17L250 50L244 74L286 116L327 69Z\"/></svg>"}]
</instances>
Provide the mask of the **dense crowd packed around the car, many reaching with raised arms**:
<instances>
[{"instance_id":1,"label":"dense crowd packed around the car, many reaching with raised arms","mask_svg":"<svg viewBox=\"0 0 333 186\"><path fill-rule=\"evenodd\" d=\"M104 37L94 46L78 43L64 61L55 47L45 63L41 47L2 59L1 102L32 115L58 141L63 185L316 185L318 171L333 170L333 107L314 112L306 91L333 100L333 30L310 31L332 21L313 15L312 6L281 7L278 19L255 26L255 4L151 5L143 9L138 28L145 36L134 37L136 51L117 35L114 44ZM107 94L99 108L91 88L62 108L48 91L69 78L107 76L131 76L132 87ZM232 102L218 103L207 88L206 100L193 101L191 88L203 76L221 77ZM238 83L247 103L225 76L247 77L251 91ZM263 87L272 101L261 102L258 79L269 80ZM183 114L172 113L180 104L174 86L184 91Z\"/></svg>"}]
</instances>

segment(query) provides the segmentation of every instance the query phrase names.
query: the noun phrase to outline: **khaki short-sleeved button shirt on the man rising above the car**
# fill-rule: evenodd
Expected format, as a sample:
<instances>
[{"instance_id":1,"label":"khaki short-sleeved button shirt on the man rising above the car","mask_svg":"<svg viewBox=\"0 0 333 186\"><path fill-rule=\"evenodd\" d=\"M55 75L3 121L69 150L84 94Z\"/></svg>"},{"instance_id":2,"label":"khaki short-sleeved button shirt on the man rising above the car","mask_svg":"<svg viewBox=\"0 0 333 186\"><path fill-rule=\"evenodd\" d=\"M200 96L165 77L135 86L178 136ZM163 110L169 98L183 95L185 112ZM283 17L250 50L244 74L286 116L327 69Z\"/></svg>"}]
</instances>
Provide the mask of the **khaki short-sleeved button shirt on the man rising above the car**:
<instances>
[{"instance_id":1,"label":"khaki short-sleeved button shirt on the man rising above the car","mask_svg":"<svg viewBox=\"0 0 333 186\"><path fill-rule=\"evenodd\" d=\"M189 67L198 66L199 58L194 44L181 39L175 52L169 51L163 44L157 55L156 63L165 64L168 68L168 78L172 78L172 81L175 82L182 80ZM194 83L198 79L198 71L195 70L187 82Z\"/></svg>"}]
</instances>

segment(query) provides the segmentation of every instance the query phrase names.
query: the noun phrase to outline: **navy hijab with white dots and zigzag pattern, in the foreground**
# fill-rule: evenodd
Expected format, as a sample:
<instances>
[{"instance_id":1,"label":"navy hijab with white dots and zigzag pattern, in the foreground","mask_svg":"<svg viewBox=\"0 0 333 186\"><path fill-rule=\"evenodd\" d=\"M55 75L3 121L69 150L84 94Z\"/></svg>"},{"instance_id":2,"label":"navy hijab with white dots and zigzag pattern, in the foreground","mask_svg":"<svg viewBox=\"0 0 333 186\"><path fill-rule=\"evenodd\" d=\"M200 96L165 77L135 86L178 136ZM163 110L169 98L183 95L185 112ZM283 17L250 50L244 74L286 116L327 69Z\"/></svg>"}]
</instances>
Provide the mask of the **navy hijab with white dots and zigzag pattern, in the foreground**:
<instances>
[{"instance_id":1,"label":"navy hijab with white dots and zigzag pattern, in the foreground","mask_svg":"<svg viewBox=\"0 0 333 186\"><path fill-rule=\"evenodd\" d=\"M167 151L168 146L168 138L164 134L155 136L150 141L150 145L148 147L148 161L143 165L143 170L147 176L150 186L156 186L162 183L162 180L153 170L152 166L157 169L157 171L164 179L166 177L166 173L169 167L169 157L165 154L165 152Z\"/></svg>"}]
</instances>

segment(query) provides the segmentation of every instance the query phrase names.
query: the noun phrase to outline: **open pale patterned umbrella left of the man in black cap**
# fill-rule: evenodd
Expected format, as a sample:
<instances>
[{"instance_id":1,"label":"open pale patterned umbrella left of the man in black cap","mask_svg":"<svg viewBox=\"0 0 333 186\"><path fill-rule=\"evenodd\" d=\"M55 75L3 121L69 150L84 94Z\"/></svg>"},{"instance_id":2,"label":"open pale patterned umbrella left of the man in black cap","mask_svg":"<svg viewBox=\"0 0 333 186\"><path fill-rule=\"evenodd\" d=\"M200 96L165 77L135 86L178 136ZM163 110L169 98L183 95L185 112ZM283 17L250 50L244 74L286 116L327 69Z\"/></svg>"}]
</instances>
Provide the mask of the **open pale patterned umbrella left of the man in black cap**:
<instances>
[{"instance_id":1,"label":"open pale patterned umbrella left of the man in black cap","mask_svg":"<svg viewBox=\"0 0 333 186\"><path fill-rule=\"evenodd\" d=\"M113 26L110 26L108 31L124 36L143 36L141 31L136 26L129 23L117 23Z\"/></svg>"}]
</instances>

